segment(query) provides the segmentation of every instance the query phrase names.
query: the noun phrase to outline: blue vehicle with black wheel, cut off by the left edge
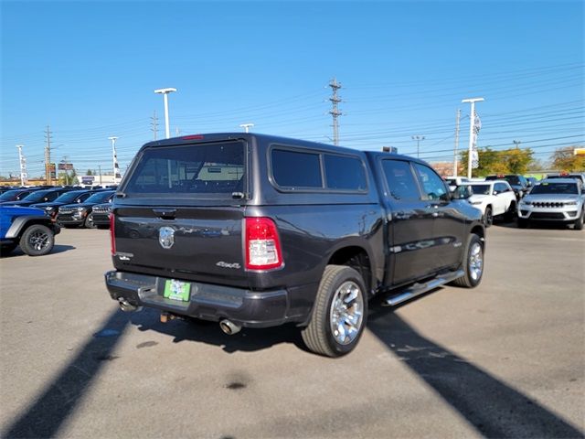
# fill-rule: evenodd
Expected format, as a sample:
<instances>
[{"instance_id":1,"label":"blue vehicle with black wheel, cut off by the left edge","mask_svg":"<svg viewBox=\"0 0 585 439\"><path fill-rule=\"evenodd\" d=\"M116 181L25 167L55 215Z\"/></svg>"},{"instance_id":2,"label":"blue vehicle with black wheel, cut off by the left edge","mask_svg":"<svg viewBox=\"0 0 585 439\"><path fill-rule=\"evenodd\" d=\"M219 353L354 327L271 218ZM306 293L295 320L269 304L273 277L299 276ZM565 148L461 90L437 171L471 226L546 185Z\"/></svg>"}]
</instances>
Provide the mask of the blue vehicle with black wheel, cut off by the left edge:
<instances>
[{"instance_id":1,"label":"blue vehicle with black wheel, cut off by the left edge","mask_svg":"<svg viewBox=\"0 0 585 439\"><path fill-rule=\"evenodd\" d=\"M40 209L0 206L0 253L20 249L29 256L53 250L59 227Z\"/></svg>"}]
</instances>

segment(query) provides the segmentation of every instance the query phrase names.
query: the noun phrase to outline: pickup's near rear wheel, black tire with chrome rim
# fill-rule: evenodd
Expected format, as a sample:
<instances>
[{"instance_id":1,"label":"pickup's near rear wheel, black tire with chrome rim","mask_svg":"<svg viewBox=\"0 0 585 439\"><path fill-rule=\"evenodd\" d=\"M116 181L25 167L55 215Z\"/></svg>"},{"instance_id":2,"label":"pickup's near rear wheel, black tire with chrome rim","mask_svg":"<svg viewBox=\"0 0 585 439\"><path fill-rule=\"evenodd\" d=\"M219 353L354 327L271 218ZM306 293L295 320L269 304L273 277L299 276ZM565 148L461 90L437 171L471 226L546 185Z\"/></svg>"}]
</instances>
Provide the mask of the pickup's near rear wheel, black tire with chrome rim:
<instances>
[{"instance_id":1,"label":"pickup's near rear wheel, black tire with chrome rim","mask_svg":"<svg viewBox=\"0 0 585 439\"><path fill-rule=\"evenodd\" d=\"M356 296L346 302L353 294ZM340 307L344 306L343 316L339 316ZM348 323L348 317L357 319L355 325ZM311 321L301 333L306 347L326 357L346 355L356 348L366 321L367 290L361 274L345 265L327 265L319 284ZM338 322L337 327L342 328L343 334L342 331L334 331L335 322ZM346 335L346 327L349 335ZM344 340L339 341L342 337Z\"/></svg>"}]
</instances>

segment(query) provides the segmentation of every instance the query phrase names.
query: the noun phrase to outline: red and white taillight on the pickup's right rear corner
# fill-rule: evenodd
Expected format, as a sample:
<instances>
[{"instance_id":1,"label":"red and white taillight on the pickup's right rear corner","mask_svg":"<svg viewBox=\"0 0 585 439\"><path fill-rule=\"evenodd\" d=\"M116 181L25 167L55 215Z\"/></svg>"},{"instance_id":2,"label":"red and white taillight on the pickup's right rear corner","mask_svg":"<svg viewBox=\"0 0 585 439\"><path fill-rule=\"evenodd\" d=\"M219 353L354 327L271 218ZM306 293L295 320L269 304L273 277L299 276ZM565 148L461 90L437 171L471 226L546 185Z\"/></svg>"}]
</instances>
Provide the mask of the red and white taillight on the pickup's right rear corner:
<instances>
[{"instance_id":1,"label":"red and white taillight on the pickup's right rear corner","mask_svg":"<svg viewBox=\"0 0 585 439\"><path fill-rule=\"evenodd\" d=\"M282 267L281 241L270 218L246 218L246 268L269 270Z\"/></svg>"}]
</instances>

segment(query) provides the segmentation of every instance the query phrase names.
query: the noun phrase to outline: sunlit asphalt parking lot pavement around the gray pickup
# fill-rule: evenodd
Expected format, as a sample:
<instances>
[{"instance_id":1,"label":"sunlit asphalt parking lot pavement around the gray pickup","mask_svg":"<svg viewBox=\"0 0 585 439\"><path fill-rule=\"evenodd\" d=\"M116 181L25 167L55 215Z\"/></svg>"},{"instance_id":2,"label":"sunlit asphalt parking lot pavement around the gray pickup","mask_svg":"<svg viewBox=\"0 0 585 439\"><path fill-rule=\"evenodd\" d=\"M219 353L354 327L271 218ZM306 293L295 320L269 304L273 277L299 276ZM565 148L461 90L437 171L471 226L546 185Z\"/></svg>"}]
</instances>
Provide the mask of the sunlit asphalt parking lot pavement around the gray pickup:
<instances>
[{"instance_id":1,"label":"sunlit asphalt parking lot pavement around the gray pickup","mask_svg":"<svg viewBox=\"0 0 585 439\"><path fill-rule=\"evenodd\" d=\"M495 225L480 287L372 306L342 359L294 327L124 314L109 245L2 259L2 437L583 437L584 231Z\"/></svg>"}]
</instances>

